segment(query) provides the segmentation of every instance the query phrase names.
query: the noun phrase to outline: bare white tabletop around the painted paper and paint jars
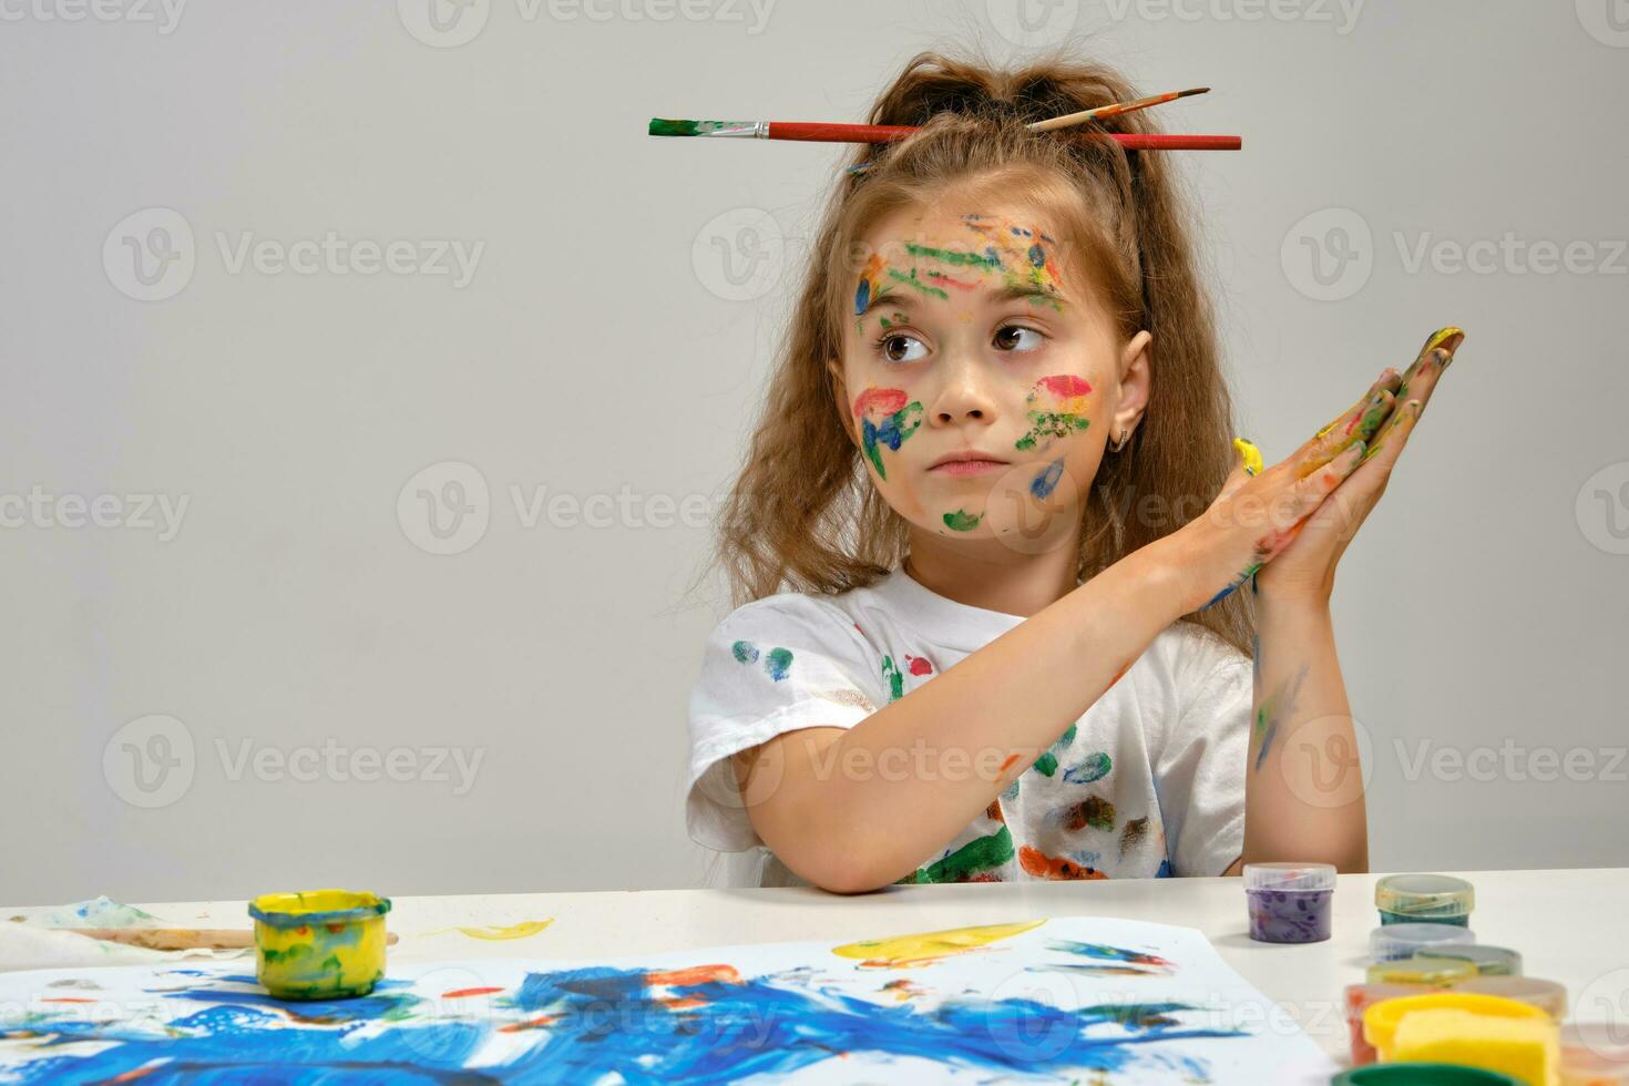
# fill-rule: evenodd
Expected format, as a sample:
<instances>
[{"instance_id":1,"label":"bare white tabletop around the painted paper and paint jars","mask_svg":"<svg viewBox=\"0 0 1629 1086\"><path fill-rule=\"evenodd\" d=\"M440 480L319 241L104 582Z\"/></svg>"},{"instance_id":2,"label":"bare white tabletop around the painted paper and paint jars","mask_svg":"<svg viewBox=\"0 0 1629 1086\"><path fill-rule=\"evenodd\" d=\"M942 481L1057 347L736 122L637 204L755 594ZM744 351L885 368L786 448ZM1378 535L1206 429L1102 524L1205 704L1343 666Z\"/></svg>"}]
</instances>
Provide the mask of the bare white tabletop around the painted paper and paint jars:
<instances>
[{"instance_id":1,"label":"bare white tabletop around the painted paper and paint jars","mask_svg":"<svg viewBox=\"0 0 1629 1086\"><path fill-rule=\"evenodd\" d=\"M1515 948L1530 977L1565 983L1569 1016L1575 1009L1580 1019L1609 1021L1618 1008L1622 1026L1629 1008L1629 868L1453 874L1476 884L1471 928L1479 943ZM1344 1062L1342 988L1363 979L1368 933L1380 922L1373 905L1378 878L1339 876L1334 936L1302 946L1249 939L1240 879L901 886L857 897L813 889L396 897L389 930L401 941L389 961L621 957L741 943L849 943L1039 917L1126 917L1199 928L1233 969ZM178 925L249 926L241 900L142 907ZM549 928L525 939L425 935L453 925L502 926L551 917Z\"/></svg>"}]
</instances>

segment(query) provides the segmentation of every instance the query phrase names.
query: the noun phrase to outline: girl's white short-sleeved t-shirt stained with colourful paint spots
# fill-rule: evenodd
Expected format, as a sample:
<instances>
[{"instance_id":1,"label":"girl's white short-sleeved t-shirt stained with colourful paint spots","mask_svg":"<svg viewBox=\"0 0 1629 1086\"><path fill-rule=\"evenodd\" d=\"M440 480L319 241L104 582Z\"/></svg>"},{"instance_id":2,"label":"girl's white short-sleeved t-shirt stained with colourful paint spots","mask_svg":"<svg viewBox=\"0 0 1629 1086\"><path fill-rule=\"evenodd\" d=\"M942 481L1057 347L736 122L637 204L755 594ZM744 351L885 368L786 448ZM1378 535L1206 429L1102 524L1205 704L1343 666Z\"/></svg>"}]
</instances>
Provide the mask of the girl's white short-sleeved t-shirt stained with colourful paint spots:
<instances>
[{"instance_id":1,"label":"girl's white short-sleeved t-shirt stained with colourful paint spots","mask_svg":"<svg viewBox=\"0 0 1629 1086\"><path fill-rule=\"evenodd\" d=\"M806 884L753 830L728 757L798 728L852 728L1020 622L940 596L901 567L836 596L780 593L738 607L709 637L689 698L691 837L756 850L764 886ZM1220 874L1245 843L1251 682L1248 656L1204 627L1171 624L901 881Z\"/></svg>"}]
</instances>

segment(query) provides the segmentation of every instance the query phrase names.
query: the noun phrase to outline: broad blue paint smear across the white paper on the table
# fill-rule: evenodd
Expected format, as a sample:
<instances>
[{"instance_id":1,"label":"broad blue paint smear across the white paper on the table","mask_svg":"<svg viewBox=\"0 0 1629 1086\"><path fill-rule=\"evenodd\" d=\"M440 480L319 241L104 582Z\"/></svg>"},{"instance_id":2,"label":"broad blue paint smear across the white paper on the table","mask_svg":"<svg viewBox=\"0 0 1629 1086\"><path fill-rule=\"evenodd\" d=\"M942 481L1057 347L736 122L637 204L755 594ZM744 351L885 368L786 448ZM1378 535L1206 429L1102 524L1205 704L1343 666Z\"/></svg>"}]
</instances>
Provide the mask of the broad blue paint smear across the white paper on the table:
<instances>
[{"instance_id":1,"label":"broad blue paint smear across the white paper on the table","mask_svg":"<svg viewBox=\"0 0 1629 1086\"><path fill-rule=\"evenodd\" d=\"M964 995L935 1009L917 1009L814 990L806 980L800 982L798 972L744 983L663 988L665 996L705 1001L687 1009L655 998L642 969L528 974L500 1006L528 1018L546 1014L552 1021L516 1034L533 1044L510 1062L479 1068L469 1066L469 1060L503 1024L502 1018L389 1021L388 1016L404 1006L401 1000L417 1001L411 993L371 1003L279 1003L252 992L199 987L166 995L218 1005L163 1024L96 1024L68 1014L60 1021L31 1014L24 1021L0 1021L0 1037L7 1031L28 1029L33 1044L46 1050L85 1040L109 1045L90 1055L46 1055L11 1068L21 1083L91 1083L148 1068L140 1078L143 1086L181 1081L213 1086L582 1083L606 1075L640 1084L728 1083L751 1075L787 1075L841 1053L920 1057L961 1070L1023 1078L1131 1066L1202 1076L1202 1060L1160 1052L1158 1045L1243 1036L1241 1031L1183 1026L1171 1018L1175 1011L1189 1009L1181 1005L1101 1005L1070 1011L1023 998ZM290 1013L305 1021L292 1021Z\"/></svg>"}]
</instances>

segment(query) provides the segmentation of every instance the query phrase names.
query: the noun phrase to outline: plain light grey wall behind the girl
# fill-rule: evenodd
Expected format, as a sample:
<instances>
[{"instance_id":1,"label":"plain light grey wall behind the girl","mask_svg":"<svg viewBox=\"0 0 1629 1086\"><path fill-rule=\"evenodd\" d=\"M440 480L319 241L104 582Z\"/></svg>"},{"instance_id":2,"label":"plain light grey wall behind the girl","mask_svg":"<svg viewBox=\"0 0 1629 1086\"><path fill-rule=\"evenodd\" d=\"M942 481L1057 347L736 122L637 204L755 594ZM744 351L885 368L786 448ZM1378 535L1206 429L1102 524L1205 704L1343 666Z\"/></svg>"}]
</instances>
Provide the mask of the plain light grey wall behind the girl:
<instances>
[{"instance_id":1,"label":"plain light grey wall behind the girl","mask_svg":"<svg viewBox=\"0 0 1629 1086\"><path fill-rule=\"evenodd\" d=\"M72 503L0 528L0 900L700 882L684 698L725 604L686 594L697 518L645 518L725 487L845 148L645 124L858 120L917 49L1070 28L1147 93L1215 88L1168 130L1245 137L1183 164L1269 459L1468 331L1336 593L1373 865L1624 863L1621 0L1065 2L1031 37L1003 0L433 0L441 31L428 2L0 0L0 498L187 501L171 539ZM191 269L138 300L124 238L174 225L150 208ZM463 287L231 270L244 234L327 231L482 249ZM1536 274L1486 247L1507 233L1605 267ZM1355 259L1319 283L1303 238ZM1442 261L1411 270L1422 239ZM1486 272L1434 249L1478 241ZM474 510L450 542L414 505L448 482ZM609 495L611 526L528 528L541 487ZM125 744L171 773L142 791ZM300 760L324 744L411 780ZM461 795L451 747L481 757Z\"/></svg>"}]
</instances>

